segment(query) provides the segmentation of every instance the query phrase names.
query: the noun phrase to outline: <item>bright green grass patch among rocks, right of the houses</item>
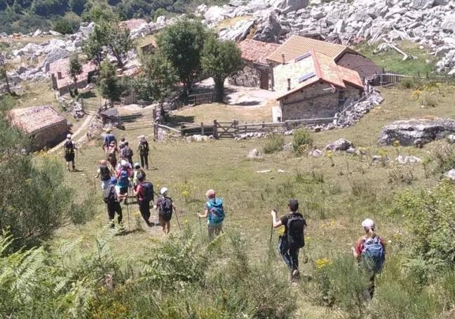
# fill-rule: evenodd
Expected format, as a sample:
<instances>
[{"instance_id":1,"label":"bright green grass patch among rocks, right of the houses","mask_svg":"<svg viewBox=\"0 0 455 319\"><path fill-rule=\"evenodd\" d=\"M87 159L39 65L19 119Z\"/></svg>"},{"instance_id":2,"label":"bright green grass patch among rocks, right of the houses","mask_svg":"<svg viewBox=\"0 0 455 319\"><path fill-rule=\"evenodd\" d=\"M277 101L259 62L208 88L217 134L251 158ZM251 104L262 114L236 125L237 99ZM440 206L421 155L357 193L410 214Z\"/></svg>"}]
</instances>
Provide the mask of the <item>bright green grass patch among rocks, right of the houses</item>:
<instances>
[{"instance_id":1,"label":"bright green grass patch among rocks, right of the houses","mask_svg":"<svg viewBox=\"0 0 455 319\"><path fill-rule=\"evenodd\" d=\"M383 67L386 71L398 72L405 75L416 75L420 72L421 76L435 71L437 59L428 54L425 49L419 48L419 44L411 41L399 41L398 48L403 50L409 57L415 56L416 59L409 58L403 61L402 55L390 48L386 52L375 54L377 46L360 46L358 51L369 57L376 65ZM429 63L426 61L429 60Z\"/></svg>"}]
</instances>

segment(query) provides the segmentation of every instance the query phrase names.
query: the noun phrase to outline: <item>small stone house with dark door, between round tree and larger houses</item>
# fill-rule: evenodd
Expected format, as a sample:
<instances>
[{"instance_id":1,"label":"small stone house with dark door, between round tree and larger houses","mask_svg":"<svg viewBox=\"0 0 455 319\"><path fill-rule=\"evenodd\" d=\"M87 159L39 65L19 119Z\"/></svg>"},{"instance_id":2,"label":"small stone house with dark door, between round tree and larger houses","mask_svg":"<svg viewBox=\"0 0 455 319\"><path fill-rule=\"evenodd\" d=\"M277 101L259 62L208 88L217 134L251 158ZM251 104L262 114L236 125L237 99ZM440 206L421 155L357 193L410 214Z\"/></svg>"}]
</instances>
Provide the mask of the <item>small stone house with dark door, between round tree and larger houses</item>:
<instances>
[{"instance_id":1,"label":"small stone house with dark door, between round tree and larger houses","mask_svg":"<svg viewBox=\"0 0 455 319\"><path fill-rule=\"evenodd\" d=\"M229 83L235 86L269 90L272 87L272 69L266 61L266 57L273 53L279 45L246 39L237 43L237 46L242 52L244 67L240 72L229 77Z\"/></svg>"}]
</instances>

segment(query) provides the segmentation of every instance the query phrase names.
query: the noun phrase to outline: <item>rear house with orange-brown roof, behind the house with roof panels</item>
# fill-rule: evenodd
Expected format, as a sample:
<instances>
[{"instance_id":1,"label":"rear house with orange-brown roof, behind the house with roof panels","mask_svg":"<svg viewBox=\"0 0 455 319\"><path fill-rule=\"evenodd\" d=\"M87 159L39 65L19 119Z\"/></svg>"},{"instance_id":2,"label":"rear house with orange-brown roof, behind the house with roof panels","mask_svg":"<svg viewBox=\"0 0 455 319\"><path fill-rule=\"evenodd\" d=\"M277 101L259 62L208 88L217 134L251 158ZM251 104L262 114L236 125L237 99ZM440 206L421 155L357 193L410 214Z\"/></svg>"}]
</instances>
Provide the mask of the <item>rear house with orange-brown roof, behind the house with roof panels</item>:
<instances>
[{"instance_id":1,"label":"rear house with orange-brown roof, behind the house with roof panels","mask_svg":"<svg viewBox=\"0 0 455 319\"><path fill-rule=\"evenodd\" d=\"M361 79L367 79L376 73L382 72L382 69L376 66L368 57L361 55L347 46L296 35L287 39L266 60L271 65L276 66L290 62L310 50L315 50L316 52L332 57L332 60L337 65L358 72Z\"/></svg>"}]
</instances>

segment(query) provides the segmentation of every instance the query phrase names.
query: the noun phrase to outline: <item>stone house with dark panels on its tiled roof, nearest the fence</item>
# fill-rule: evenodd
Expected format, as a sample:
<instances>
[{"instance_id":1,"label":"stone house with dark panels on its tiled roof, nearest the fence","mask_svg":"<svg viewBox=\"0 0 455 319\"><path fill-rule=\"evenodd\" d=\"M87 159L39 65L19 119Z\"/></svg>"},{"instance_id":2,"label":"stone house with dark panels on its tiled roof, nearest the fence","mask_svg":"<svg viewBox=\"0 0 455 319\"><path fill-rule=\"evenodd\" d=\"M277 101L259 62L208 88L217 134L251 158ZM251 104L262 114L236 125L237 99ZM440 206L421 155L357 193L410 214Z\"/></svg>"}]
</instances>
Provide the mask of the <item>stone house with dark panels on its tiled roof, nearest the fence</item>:
<instances>
[{"instance_id":1,"label":"stone house with dark panels on its tiled roof, nearest the fence","mask_svg":"<svg viewBox=\"0 0 455 319\"><path fill-rule=\"evenodd\" d=\"M277 65L273 74L279 102L272 110L274 122L334 117L363 92L357 72L315 50Z\"/></svg>"}]
</instances>

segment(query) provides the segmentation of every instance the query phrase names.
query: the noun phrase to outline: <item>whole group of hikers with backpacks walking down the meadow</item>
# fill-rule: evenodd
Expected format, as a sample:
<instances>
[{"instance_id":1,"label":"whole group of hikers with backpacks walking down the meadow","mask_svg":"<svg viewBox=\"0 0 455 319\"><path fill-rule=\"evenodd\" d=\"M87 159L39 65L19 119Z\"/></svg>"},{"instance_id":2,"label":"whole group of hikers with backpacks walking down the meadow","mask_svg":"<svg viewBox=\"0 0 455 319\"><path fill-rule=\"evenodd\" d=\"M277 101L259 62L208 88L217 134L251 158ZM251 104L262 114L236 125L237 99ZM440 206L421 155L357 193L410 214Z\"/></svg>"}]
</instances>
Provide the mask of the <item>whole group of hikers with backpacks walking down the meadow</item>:
<instances>
[{"instance_id":1,"label":"whole group of hikers with backpacks walking down the meadow","mask_svg":"<svg viewBox=\"0 0 455 319\"><path fill-rule=\"evenodd\" d=\"M128 197L130 192L137 199L137 205L144 222L149 227L156 226L150 221L151 202L154 195L158 195L153 208L158 212L158 221L163 228L163 233L170 232L170 220L172 213L177 216L177 208L172 198L168 195L168 188L163 187L159 194L154 191L154 186L147 181L146 170L149 170L149 143L144 135L139 137L137 151L140 154L140 163L133 163L133 150L128 141L122 139L117 145L116 137L108 130L104 137L102 146L106 159L100 161L96 178L100 178L103 189L103 199L107 207L109 226L115 227L114 217L117 214L118 227L123 230L123 214L121 203L125 203L128 209ZM65 161L67 167L72 163L72 169L76 170L74 164L74 151L76 144L72 141L71 135L67 136L64 143ZM117 161L117 158L119 161ZM217 198L215 190L209 189L205 193L206 202L203 214L198 213L199 218L206 218L208 225L208 236L210 240L222 233L224 222L224 208L221 198ZM290 280L295 282L299 279L299 250L304 247L304 229L306 221L299 213L299 201L290 199L287 208L289 212L278 218L276 210L271 211L272 230L284 226L284 233L278 238L278 250L290 270ZM177 219L178 222L178 219ZM385 260L385 245L383 238L376 235L375 225L372 219L365 219L362 222L365 231L353 247L353 255L359 265L364 267L369 275L369 289L367 294L373 297L374 281L376 274L382 270Z\"/></svg>"}]
</instances>

